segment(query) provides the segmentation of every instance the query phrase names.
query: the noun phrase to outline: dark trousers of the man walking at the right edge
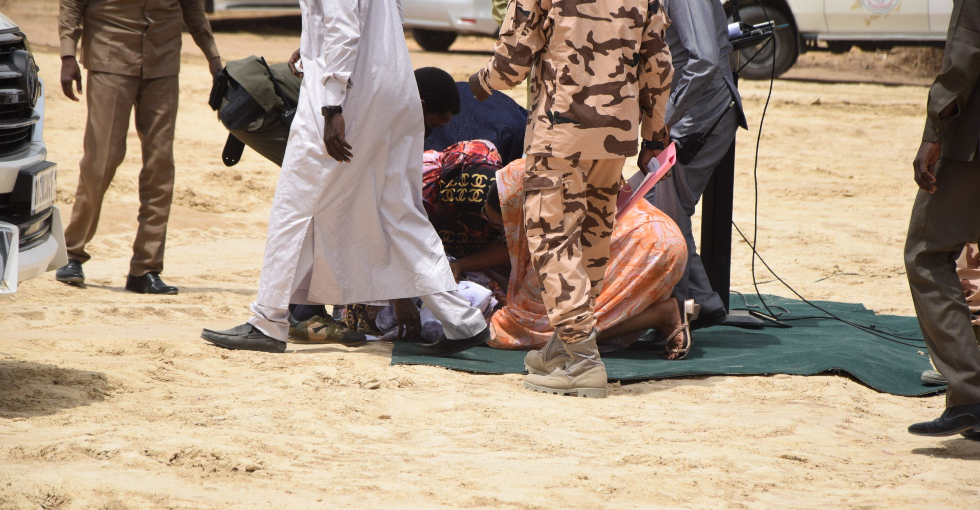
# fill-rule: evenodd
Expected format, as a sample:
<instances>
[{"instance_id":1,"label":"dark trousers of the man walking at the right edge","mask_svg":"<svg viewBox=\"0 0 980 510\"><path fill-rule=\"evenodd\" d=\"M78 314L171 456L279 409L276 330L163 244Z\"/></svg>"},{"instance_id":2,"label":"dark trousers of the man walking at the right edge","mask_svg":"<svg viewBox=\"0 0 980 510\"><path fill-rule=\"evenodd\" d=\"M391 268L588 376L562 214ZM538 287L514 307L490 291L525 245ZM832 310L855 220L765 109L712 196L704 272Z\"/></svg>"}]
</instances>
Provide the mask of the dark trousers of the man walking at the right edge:
<instances>
[{"instance_id":1,"label":"dark trousers of the man walking at the right edge","mask_svg":"<svg viewBox=\"0 0 980 510\"><path fill-rule=\"evenodd\" d=\"M915 197L906 271L929 355L950 382L946 405L952 407L980 402L980 347L956 276L963 245L980 240L980 160L940 160L936 188Z\"/></svg>"}]
</instances>

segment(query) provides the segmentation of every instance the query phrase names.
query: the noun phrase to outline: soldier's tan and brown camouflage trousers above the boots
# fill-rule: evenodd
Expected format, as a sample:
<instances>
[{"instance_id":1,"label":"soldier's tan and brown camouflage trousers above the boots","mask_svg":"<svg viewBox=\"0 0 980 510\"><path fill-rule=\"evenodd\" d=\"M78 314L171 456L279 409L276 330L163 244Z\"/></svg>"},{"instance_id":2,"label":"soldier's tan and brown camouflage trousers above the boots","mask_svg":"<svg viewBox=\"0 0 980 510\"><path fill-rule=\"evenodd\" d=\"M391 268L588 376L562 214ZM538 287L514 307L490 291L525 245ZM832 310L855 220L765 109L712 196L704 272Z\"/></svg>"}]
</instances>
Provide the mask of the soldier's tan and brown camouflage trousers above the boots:
<instances>
[{"instance_id":1,"label":"soldier's tan and brown camouflage trousers above the boots","mask_svg":"<svg viewBox=\"0 0 980 510\"><path fill-rule=\"evenodd\" d=\"M548 321L565 342L585 340L596 326L596 297L609 265L624 162L527 158L527 248Z\"/></svg>"}]
</instances>

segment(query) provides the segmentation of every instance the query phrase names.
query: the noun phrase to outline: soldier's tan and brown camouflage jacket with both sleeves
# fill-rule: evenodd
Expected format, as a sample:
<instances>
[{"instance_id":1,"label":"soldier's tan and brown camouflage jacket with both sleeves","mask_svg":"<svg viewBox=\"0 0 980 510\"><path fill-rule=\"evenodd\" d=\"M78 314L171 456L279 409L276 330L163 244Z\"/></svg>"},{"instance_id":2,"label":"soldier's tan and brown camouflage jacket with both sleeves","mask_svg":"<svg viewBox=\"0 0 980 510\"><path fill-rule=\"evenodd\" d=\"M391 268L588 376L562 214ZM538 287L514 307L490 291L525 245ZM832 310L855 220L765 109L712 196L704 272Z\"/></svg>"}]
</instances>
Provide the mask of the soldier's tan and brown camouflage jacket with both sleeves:
<instances>
[{"instance_id":1,"label":"soldier's tan and brown camouflage jacket with both sleeves","mask_svg":"<svg viewBox=\"0 0 980 510\"><path fill-rule=\"evenodd\" d=\"M534 68L530 156L633 156L638 127L644 139L666 141L668 24L660 0L512 0L480 83L513 88Z\"/></svg>"}]
</instances>

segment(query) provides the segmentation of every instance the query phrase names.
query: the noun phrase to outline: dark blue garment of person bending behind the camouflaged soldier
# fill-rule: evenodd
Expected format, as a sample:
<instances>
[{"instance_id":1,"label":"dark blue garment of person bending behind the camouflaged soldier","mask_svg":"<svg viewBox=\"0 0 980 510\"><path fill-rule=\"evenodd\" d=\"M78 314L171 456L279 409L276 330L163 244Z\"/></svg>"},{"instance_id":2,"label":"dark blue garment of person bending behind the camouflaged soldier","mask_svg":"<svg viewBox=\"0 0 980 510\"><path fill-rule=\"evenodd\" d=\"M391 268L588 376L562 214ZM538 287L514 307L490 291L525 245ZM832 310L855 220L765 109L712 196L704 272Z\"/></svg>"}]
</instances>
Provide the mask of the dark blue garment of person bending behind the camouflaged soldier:
<instances>
[{"instance_id":1,"label":"dark blue garment of person bending behind the camouflaged soldier","mask_svg":"<svg viewBox=\"0 0 980 510\"><path fill-rule=\"evenodd\" d=\"M432 130L425 138L426 151L444 151L466 140L490 140L497 146L504 164L524 154L524 128L527 111L503 92L494 91L480 103L469 90L469 83L458 81L460 115L442 127Z\"/></svg>"}]
</instances>

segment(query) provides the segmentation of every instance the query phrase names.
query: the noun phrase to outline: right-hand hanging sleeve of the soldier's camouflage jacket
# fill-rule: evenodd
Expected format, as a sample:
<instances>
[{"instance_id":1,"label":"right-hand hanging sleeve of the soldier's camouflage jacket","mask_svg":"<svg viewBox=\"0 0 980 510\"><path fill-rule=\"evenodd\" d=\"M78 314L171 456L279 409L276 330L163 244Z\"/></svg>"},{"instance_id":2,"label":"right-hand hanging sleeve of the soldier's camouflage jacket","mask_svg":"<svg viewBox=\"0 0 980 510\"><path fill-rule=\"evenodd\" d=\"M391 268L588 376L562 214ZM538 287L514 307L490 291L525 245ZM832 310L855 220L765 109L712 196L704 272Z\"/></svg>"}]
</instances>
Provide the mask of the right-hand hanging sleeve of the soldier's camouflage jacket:
<instances>
[{"instance_id":1,"label":"right-hand hanging sleeve of the soldier's camouflage jacket","mask_svg":"<svg viewBox=\"0 0 980 510\"><path fill-rule=\"evenodd\" d=\"M670 21L660 0L650 0L647 24L640 42L640 136L644 140L666 143L667 130L663 115L670 97L670 50L663 42Z\"/></svg>"}]
</instances>

